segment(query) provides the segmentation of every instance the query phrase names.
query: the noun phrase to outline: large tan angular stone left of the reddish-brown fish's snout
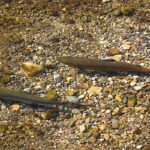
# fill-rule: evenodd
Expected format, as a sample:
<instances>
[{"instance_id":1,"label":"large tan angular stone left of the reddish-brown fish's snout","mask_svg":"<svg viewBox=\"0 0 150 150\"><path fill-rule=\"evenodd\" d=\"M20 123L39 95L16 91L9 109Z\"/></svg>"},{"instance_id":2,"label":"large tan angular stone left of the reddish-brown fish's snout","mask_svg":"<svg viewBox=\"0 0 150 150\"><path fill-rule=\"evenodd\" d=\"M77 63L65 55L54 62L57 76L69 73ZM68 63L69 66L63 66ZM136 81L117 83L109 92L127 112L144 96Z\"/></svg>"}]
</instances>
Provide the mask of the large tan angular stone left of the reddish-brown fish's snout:
<instances>
[{"instance_id":1,"label":"large tan angular stone left of the reddish-brown fish's snout","mask_svg":"<svg viewBox=\"0 0 150 150\"><path fill-rule=\"evenodd\" d=\"M42 67L31 63L31 62L25 62L21 65L21 70L25 73L26 76L34 76L35 74L42 71Z\"/></svg>"}]
</instances>

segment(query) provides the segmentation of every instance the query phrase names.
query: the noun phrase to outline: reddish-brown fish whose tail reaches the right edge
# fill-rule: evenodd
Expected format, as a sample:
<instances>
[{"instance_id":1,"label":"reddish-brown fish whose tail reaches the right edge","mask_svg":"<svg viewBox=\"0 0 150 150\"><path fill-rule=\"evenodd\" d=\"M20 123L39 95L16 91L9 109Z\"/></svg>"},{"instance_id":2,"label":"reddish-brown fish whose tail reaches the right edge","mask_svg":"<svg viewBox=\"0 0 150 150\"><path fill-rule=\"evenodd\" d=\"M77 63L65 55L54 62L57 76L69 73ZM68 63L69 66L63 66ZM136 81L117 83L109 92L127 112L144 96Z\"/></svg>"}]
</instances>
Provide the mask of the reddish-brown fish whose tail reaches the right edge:
<instances>
[{"instance_id":1,"label":"reddish-brown fish whose tail reaches the right edge","mask_svg":"<svg viewBox=\"0 0 150 150\"><path fill-rule=\"evenodd\" d=\"M71 56L58 57L57 60L66 65L80 69L88 69L103 72L144 73L150 75L150 69L143 68L140 65L134 65L126 62L117 62L115 60L100 60L100 59L90 59L87 57L71 57Z\"/></svg>"}]
</instances>

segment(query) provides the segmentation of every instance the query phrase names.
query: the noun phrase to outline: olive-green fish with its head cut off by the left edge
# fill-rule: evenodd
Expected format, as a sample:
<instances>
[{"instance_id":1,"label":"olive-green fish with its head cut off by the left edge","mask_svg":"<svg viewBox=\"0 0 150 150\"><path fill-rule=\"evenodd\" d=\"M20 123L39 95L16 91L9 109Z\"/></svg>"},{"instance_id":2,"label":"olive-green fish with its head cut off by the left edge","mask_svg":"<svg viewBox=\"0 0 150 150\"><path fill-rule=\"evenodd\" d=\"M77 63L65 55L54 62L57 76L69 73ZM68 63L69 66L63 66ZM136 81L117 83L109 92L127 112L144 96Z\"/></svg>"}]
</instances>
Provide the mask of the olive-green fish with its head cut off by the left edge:
<instances>
[{"instance_id":1,"label":"olive-green fish with its head cut off by the left edge","mask_svg":"<svg viewBox=\"0 0 150 150\"><path fill-rule=\"evenodd\" d=\"M24 91L10 89L6 87L0 87L0 99L4 101L21 102L29 105L40 105L40 106L71 106L70 102L60 102L56 100L49 100L48 98L40 97L36 94L28 94ZM75 106L88 106L84 104L74 104ZM90 106L90 105L89 105Z\"/></svg>"}]
</instances>

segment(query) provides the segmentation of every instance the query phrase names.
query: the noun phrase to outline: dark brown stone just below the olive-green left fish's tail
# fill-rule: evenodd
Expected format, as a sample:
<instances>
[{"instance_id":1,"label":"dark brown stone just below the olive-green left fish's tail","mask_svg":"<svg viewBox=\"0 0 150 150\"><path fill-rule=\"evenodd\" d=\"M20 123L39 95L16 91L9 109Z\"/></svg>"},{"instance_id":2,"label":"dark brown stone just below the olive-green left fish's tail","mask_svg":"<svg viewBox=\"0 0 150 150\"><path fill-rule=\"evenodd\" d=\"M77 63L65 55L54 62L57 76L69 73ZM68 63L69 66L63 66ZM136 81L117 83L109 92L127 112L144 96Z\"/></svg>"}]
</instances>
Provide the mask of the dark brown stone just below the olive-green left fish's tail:
<instances>
[{"instance_id":1,"label":"dark brown stone just below the olive-green left fish's tail","mask_svg":"<svg viewBox=\"0 0 150 150\"><path fill-rule=\"evenodd\" d=\"M45 120L56 118L57 115L58 115L58 110L55 108L51 108L51 109L41 113L41 117Z\"/></svg>"}]
</instances>

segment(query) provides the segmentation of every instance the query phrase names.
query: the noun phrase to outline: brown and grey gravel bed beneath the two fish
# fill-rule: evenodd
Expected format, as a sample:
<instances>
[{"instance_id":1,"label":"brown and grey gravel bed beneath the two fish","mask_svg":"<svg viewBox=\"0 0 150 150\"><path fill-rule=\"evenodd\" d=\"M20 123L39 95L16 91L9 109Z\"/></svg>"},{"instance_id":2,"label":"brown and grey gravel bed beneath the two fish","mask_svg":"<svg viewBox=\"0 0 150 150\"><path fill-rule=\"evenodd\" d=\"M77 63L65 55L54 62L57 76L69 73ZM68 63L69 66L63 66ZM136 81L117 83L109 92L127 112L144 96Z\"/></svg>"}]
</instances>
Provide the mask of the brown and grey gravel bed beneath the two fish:
<instances>
[{"instance_id":1,"label":"brown and grey gravel bed beneath the two fish","mask_svg":"<svg viewBox=\"0 0 150 150\"><path fill-rule=\"evenodd\" d=\"M148 0L0 2L0 87L95 106L0 101L0 149L150 149L149 76L89 72L57 61L111 58L150 68L149 6ZM24 62L42 71L26 76Z\"/></svg>"}]
</instances>

